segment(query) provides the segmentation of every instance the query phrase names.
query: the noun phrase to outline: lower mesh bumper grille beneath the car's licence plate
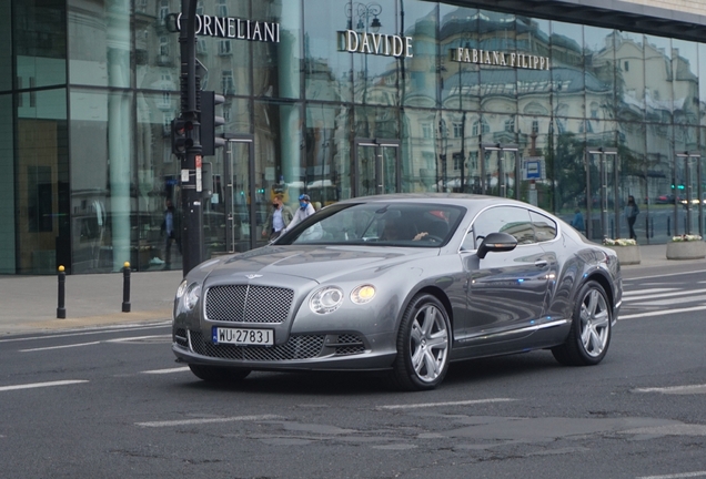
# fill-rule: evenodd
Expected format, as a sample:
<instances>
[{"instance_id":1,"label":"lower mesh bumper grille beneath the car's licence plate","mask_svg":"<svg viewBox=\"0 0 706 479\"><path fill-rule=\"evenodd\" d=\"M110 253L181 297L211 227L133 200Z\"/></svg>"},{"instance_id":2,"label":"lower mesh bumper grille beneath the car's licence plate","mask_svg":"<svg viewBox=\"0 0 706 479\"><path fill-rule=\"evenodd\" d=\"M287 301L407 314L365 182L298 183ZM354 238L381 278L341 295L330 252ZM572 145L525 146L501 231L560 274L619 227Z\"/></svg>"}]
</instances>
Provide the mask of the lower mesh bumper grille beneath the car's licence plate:
<instances>
[{"instance_id":1,"label":"lower mesh bumper grille beneath the car's licence plate","mask_svg":"<svg viewBox=\"0 0 706 479\"><path fill-rule=\"evenodd\" d=\"M324 335L291 336L283 345L272 347L214 345L199 332L190 330L191 348L201 356L253 361L310 359L321 354Z\"/></svg>"}]
</instances>

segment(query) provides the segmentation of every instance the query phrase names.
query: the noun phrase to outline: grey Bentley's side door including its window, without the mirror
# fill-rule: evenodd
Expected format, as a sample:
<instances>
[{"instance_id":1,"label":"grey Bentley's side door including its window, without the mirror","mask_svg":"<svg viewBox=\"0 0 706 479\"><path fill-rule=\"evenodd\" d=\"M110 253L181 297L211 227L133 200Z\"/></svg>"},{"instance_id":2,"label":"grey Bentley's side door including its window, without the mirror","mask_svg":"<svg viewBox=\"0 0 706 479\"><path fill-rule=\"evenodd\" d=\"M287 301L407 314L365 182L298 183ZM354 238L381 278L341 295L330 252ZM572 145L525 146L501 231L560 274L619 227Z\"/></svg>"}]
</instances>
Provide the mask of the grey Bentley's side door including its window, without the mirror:
<instances>
[{"instance_id":1,"label":"grey Bentley's side door including its window, without the mirror","mask_svg":"<svg viewBox=\"0 0 706 479\"><path fill-rule=\"evenodd\" d=\"M485 236L495 232L513 235L517 246L478 258L475 251ZM545 309L551 267L546 252L536 242L530 211L510 205L483 211L474 220L463 248L468 310L460 325L460 345L505 342L510 346L508 342L530 334L527 326Z\"/></svg>"}]
</instances>

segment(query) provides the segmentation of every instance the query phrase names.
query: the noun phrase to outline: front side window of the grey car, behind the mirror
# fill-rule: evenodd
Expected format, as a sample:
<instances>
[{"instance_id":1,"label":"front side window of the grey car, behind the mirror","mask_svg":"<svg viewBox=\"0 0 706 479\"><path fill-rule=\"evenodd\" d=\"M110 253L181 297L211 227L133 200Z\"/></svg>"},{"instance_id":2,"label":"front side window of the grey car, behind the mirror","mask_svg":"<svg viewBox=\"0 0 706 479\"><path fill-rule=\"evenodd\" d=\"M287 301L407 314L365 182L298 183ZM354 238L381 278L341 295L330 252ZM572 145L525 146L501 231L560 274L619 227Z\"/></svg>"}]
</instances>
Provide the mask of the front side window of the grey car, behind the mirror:
<instances>
[{"instance_id":1,"label":"front side window of the grey car, behind the mirror","mask_svg":"<svg viewBox=\"0 0 706 479\"><path fill-rule=\"evenodd\" d=\"M498 206L481 213L473 222L474 244L470 249L476 249L483 238L491 233L511 234L515 236L518 244L535 243L530 212L523 207ZM468 240L464 242L464 247Z\"/></svg>"}]
</instances>

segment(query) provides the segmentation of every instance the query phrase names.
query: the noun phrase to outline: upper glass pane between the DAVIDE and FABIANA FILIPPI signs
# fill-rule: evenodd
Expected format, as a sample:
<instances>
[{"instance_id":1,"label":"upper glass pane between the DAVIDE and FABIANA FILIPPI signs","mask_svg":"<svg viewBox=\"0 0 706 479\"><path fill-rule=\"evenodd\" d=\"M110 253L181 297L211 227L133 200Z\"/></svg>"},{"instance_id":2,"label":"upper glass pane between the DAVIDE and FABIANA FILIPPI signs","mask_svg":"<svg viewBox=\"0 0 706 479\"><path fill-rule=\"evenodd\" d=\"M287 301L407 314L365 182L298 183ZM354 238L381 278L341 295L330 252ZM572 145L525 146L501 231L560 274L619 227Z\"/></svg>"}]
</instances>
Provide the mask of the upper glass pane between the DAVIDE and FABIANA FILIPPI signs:
<instances>
[{"instance_id":1,"label":"upper glass pane between the DAVIDE and FABIANA FILIPPI signs","mask_svg":"<svg viewBox=\"0 0 706 479\"><path fill-rule=\"evenodd\" d=\"M413 54L400 62L400 95L410 106L437 106L436 44L438 34L437 3L407 0L399 2L399 22L403 37L414 38Z\"/></svg>"}]
</instances>

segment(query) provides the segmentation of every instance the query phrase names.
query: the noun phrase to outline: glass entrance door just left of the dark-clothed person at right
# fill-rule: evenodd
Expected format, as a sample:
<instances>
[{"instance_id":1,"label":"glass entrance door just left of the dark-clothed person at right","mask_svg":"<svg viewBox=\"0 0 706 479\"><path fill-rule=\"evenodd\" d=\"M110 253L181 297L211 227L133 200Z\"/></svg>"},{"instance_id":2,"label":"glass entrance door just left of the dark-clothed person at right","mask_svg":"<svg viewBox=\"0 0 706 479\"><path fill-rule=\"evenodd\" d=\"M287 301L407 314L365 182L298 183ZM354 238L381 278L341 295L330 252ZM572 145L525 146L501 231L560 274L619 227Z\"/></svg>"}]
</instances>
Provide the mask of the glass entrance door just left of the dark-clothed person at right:
<instances>
[{"instance_id":1,"label":"glass entrance door just left of the dark-clothed person at right","mask_svg":"<svg viewBox=\"0 0 706 479\"><path fill-rule=\"evenodd\" d=\"M586 150L588 175L586 181L587 234L592 240L629 237L621 233L621 208L624 206L619 188L617 149ZM625 201L627 201L625 198ZM639 202L639 198L635 198Z\"/></svg>"}]
</instances>

